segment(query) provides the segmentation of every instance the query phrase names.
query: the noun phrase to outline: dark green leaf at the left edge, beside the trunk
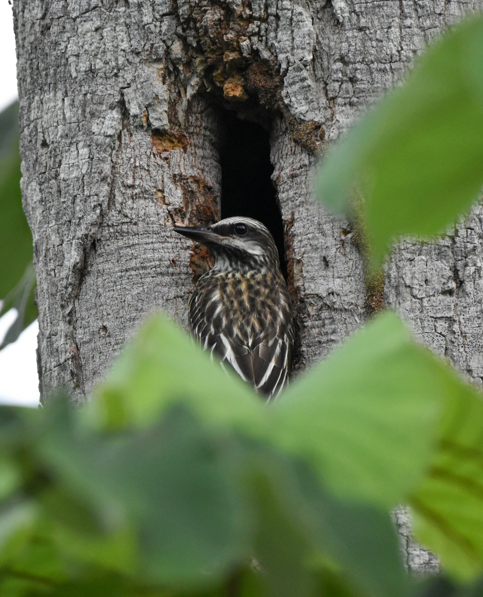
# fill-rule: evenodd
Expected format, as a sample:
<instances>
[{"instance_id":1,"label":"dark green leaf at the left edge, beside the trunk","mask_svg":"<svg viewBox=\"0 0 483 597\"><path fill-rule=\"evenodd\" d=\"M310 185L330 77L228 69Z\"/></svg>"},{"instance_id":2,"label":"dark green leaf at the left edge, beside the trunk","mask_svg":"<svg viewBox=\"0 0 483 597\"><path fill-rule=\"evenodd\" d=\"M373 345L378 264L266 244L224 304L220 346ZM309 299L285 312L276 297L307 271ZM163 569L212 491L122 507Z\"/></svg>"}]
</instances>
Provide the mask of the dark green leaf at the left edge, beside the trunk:
<instances>
[{"instance_id":1,"label":"dark green leaf at the left edge, beside the trunk","mask_svg":"<svg viewBox=\"0 0 483 597\"><path fill-rule=\"evenodd\" d=\"M20 193L19 103L0 113L0 316L16 309L0 349L14 342L37 318L33 291L32 234L22 210Z\"/></svg>"}]
</instances>

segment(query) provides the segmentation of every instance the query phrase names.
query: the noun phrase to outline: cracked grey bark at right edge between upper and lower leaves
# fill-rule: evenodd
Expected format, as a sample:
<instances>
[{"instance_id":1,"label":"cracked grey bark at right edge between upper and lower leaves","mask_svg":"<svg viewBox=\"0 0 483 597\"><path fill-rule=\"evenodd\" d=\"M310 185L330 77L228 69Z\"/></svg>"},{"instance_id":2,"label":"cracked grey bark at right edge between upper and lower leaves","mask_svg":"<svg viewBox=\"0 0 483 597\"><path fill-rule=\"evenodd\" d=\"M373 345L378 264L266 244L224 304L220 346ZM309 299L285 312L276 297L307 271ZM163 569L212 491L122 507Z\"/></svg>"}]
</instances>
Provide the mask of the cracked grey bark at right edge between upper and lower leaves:
<instances>
[{"instance_id":1,"label":"cracked grey bark at right edge between upper and lower leaves","mask_svg":"<svg viewBox=\"0 0 483 597\"><path fill-rule=\"evenodd\" d=\"M427 346L483 383L483 209L438 242L398 245L385 296Z\"/></svg>"}]
</instances>

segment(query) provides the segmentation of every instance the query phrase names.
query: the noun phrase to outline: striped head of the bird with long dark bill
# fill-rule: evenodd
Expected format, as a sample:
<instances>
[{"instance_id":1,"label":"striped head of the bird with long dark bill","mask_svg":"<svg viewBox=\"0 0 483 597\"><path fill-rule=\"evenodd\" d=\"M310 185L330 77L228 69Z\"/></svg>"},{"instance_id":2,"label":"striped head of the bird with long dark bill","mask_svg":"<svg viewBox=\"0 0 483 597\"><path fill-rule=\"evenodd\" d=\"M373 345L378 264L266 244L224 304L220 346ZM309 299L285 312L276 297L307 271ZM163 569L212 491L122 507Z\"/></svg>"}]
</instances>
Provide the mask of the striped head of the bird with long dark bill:
<instances>
[{"instance_id":1,"label":"striped head of the bird with long dark bill","mask_svg":"<svg viewBox=\"0 0 483 597\"><path fill-rule=\"evenodd\" d=\"M220 271L276 271L280 269L272 235L257 220L232 217L210 226L174 227L193 241L206 245Z\"/></svg>"}]
</instances>

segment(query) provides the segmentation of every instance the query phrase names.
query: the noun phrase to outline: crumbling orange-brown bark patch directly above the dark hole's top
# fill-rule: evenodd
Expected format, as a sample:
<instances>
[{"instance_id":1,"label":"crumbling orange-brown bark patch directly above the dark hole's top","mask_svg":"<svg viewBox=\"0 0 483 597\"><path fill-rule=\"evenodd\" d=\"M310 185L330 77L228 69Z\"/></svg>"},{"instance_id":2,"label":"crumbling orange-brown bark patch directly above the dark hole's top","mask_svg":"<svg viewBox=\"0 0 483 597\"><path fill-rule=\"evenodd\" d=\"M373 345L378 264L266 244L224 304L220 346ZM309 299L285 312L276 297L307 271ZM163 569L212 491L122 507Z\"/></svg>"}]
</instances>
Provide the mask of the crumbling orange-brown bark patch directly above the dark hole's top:
<instances>
[{"instance_id":1,"label":"crumbling orange-brown bark patch directly above the dark hole's top","mask_svg":"<svg viewBox=\"0 0 483 597\"><path fill-rule=\"evenodd\" d=\"M190 39L186 57L190 57L190 70L196 73L192 80L199 81L198 89L204 85L208 93L236 106L251 120L265 123L267 117L282 115L295 143L310 153L320 149L325 137L321 122L293 115L282 97L286 72L282 76L278 57L271 53L260 56L256 40L260 21L250 2L223 6L208 0L187 2L180 23Z\"/></svg>"}]
</instances>

